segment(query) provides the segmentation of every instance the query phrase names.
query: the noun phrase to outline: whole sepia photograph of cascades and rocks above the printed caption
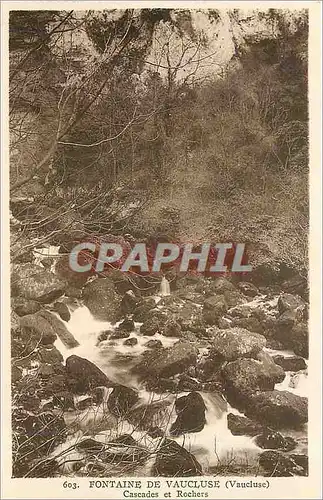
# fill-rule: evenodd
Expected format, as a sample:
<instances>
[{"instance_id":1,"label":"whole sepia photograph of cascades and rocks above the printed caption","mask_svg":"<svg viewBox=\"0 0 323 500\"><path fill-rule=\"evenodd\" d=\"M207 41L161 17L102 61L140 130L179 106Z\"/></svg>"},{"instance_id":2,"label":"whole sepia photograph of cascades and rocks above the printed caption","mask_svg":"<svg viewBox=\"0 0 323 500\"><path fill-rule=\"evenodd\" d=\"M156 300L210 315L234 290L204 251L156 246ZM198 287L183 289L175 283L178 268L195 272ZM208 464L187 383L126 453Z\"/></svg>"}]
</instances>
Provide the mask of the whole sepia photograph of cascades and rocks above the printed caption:
<instances>
[{"instance_id":1,"label":"whole sepia photograph of cascades and rocks above the printed caption","mask_svg":"<svg viewBox=\"0 0 323 500\"><path fill-rule=\"evenodd\" d=\"M27 3L12 478L308 476L308 9Z\"/></svg>"}]
</instances>

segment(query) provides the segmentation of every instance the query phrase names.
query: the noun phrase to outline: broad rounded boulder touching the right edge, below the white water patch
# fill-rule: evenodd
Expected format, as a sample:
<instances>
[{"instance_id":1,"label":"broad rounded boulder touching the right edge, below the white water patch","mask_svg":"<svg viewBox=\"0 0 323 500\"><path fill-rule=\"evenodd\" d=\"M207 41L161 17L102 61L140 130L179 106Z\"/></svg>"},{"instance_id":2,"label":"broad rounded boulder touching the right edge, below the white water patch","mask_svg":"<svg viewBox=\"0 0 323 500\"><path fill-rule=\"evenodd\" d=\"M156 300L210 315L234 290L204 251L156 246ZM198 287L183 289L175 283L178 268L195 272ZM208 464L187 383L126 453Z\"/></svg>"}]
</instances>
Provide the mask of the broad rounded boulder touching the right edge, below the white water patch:
<instances>
[{"instance_id":1,"label":"broad rounded boulder touching the right edge, below the white water patch","mask_svg":"<svg viewBox=\"0 0 323 500\"><path fill-rule=\"evenodd\" d=\"M307 422L307 398L288 391L258 392L249 397L246 415L277 429L297 428Z\"/></svg>"}]
</instances>

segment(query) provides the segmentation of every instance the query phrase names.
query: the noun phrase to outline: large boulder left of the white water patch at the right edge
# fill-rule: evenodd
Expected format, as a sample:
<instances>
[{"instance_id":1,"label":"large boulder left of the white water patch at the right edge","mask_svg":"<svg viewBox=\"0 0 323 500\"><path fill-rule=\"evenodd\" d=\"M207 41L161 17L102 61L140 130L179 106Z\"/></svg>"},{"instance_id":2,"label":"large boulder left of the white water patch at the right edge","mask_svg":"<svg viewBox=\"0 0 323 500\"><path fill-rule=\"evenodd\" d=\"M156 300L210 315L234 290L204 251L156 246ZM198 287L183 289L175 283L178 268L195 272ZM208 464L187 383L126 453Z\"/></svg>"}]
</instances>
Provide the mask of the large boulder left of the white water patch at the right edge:
<instances>
[{"instance_id":1,"label":"large boulder left of the white water patch at the right edge","mask_svg":"<svg viewBox=\"0 0 323 500\"><path fill-rule=\"evenodd\" d=\"M244 408L254 391L273 390L276 383L285 378L284 370L276 365L265 364L255 359L237 359L222 369L228 400Z\"/></svg>"}]
</instances>

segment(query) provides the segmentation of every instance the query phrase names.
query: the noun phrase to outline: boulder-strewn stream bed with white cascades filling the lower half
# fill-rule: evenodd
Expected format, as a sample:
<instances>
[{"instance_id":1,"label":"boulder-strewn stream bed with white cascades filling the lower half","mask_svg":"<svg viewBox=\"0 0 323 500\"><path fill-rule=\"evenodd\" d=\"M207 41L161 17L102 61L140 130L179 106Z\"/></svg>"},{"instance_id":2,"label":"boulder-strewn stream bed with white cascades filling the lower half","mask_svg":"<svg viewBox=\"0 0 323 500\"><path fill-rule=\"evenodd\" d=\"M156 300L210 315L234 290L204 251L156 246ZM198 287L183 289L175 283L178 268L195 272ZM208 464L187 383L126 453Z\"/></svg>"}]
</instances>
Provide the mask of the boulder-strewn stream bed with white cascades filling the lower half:
<instances>
[{"instance_id":1,"label":"boulder-strewn stream bed with white cascades filling the lower half","mask_svg":"<svg viewBox=\"0 0 323 500\"><path fill-rule=\"evenodd\" d=\"M13 475L306 475L306 288L155 281L13 267Z\"/></svg>"}]
</instances>

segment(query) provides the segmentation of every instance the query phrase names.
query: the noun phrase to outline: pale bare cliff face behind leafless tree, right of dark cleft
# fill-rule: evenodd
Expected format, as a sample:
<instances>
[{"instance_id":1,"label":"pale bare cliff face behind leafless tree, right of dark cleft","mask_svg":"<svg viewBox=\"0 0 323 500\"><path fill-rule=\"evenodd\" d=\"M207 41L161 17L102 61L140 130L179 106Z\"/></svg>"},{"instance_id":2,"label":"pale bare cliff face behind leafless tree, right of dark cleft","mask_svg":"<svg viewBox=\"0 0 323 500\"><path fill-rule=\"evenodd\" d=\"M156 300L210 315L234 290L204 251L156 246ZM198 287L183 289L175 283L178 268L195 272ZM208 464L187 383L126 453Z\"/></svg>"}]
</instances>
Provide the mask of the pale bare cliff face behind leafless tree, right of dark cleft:
<instances>
[{"instance_id":1,"label":"pale bare cliff face behind leafless tree, right of dark cleft","mask_svg":"<svg viewBox=\"0 0 323 500\"><path fill-rule=\"evenodd\" d=\"M281 35L282 23L291 32L305 15L301 11L173 10L160 22L152 38L148 65L157 65L167 79L168 69L178 80L221 76L249 44Z\"/></svg>"}]
</instances>

